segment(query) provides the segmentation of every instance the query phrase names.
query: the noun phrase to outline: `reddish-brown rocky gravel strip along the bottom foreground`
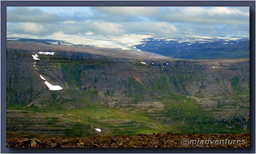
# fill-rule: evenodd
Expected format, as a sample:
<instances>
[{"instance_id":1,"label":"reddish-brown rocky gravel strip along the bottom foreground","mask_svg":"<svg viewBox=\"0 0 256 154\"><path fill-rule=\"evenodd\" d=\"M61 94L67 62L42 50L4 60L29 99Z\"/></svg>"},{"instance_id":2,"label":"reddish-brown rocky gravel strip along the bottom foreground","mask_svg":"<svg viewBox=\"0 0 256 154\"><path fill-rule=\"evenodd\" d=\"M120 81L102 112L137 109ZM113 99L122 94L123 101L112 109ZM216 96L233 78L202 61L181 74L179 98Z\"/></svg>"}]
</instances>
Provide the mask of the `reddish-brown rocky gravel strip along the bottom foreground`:
<instances>
[{"instance_id":1,"label":"reddish-brown rocky gravel strip along the bottom foreground","mask_svg":"<svg viewBox=\"0 0 256 154\"><path fill-rule=\"evenodd\" d=\"M248 148L250 134L150 134L98 137L7 137L7 148Z\"/></svg>"}]
</instances>

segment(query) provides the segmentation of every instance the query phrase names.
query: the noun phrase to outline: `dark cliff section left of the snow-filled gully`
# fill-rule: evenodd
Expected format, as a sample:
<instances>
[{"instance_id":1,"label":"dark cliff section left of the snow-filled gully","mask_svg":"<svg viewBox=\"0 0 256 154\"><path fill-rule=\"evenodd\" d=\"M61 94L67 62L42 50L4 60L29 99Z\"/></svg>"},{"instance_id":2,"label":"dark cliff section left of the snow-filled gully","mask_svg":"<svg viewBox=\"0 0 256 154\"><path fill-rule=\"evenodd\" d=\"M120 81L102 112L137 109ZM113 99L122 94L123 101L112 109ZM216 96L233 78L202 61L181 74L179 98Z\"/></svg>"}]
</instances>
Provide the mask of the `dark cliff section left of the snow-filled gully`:
<instances>
[{"instance_id":1,"label":"dark cliff section left of the snow-filled gully","mask_svg":"<svg viewBox=\"0 0 256 154\"><path fill-rule=\"evenodd\" d=\"M51 92L45 88L33 67L33 52L7 50L6 87L7 104L28 104L47 99Z\"/></svg>"}]
</instances>

